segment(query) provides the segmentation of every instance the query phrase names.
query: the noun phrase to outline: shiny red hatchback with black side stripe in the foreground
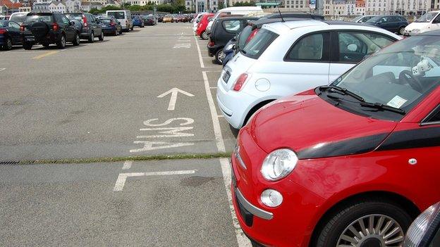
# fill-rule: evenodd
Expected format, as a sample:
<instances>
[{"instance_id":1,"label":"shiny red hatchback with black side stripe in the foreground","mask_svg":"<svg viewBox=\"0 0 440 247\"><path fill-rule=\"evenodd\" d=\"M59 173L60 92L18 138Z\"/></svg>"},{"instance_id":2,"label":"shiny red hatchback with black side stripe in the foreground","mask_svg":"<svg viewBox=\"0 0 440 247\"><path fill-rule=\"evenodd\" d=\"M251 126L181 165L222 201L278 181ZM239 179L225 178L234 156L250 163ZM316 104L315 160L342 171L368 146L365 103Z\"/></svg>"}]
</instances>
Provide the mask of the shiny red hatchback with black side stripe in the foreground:
<instances>
[{"instance_id":1,"label":"shiny red hatchback with black side stripe in the foreground","mask_svg":"<svg viewBox=\"0 0 440 247\"><path fill-rule=\"evenodd\" d=\"M238 135L231 186L254 246L403 244L440 201L439 38L403 39L255 113Z\"/></svg>"}]
</instances>

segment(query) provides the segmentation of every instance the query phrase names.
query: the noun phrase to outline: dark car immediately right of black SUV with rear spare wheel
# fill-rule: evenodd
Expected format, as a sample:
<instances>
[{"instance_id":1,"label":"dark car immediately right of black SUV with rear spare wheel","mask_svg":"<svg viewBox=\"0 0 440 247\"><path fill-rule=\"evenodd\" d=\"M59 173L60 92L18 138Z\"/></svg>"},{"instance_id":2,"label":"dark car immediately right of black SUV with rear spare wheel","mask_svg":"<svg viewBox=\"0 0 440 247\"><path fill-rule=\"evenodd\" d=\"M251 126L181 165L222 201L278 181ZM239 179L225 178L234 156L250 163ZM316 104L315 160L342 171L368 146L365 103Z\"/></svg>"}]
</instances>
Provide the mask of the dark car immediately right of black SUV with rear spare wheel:
<instances>
[{"instance_id":1,"label":"dark car immediately right of black SUV with rear spare wheel","mask_svg":"<svg viewBox=\"0 0 440 247\"><path fill-rule=\"evenodd\" d=\"M91 13L67 13L66 16L80 30L81 39L87 39L91 43L95 37L100 41L104 40L101 23Z\"/></svg>"}]
</instances>

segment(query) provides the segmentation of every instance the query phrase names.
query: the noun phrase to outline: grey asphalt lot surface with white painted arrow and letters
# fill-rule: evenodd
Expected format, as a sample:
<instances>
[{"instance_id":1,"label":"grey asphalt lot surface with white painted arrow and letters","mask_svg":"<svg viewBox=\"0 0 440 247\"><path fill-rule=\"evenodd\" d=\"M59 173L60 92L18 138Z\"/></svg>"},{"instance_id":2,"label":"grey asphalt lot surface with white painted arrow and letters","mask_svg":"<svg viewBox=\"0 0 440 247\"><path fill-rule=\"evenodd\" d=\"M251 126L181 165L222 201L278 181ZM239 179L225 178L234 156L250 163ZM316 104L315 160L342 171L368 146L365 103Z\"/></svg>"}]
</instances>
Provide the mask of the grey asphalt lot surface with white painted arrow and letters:
<instances>
[{"instance_id":1,"label":"grey asphalt lot surface with white painted arrow and letters","mask_svg":"<svg viewBox=\"0 0 440 247\"><path fill-rule=\"evenodd\" d=\"M235 146L190 24L0 54L1 246L249 245L228 158L123 160Z\"/></svg>"}]
</instances>

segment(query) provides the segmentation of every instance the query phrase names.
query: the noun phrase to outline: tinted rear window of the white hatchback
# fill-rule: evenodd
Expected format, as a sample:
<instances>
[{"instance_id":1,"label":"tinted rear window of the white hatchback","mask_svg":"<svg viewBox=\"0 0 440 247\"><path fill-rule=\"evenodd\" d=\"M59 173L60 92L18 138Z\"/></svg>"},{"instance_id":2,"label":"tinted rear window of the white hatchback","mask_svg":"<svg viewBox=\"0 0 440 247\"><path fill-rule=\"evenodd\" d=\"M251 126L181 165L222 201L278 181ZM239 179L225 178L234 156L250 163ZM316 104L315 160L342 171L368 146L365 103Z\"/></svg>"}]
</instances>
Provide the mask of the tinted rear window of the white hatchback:
<instances>
[{"instance_id":1,"label":"tinted rear window of the white hatchback","mask_svg":"<svg viewBox=\"0 0 440 247\"><path fill-rule=\"evenodd\" d=\"M249 43L241 50L245 56L258 59L261 54L266 51L267 47L274 42L279 35L266 29L262 29Z\"/></svg>"}]
</instances>

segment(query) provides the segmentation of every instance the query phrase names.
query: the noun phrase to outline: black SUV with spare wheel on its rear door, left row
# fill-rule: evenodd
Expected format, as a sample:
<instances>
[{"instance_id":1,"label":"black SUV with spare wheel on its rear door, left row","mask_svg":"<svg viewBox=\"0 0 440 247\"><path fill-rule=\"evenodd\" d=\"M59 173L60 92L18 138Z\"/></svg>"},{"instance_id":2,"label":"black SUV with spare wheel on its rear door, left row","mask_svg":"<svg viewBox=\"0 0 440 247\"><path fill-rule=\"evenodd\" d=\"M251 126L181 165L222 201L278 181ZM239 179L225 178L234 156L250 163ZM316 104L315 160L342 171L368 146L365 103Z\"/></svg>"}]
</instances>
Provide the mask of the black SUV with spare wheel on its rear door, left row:
<instances>
[{"instance_id":1,"label":"black SUV with spare wheel on its rear door, left row","mask_svg":"<svg viewBox=\"0 0 440 247\"><path fill-rule=\"evenodd\" d=\"M23 48L32 49L34 44L44 47L56 44L63 49L66 42L74 46L80 44L80 32L62 13L28 13L20 27L23 35Z\"/></svg>"}]
</instances>

